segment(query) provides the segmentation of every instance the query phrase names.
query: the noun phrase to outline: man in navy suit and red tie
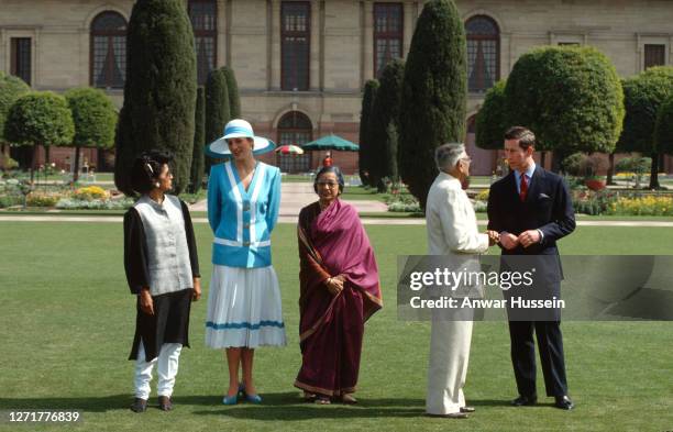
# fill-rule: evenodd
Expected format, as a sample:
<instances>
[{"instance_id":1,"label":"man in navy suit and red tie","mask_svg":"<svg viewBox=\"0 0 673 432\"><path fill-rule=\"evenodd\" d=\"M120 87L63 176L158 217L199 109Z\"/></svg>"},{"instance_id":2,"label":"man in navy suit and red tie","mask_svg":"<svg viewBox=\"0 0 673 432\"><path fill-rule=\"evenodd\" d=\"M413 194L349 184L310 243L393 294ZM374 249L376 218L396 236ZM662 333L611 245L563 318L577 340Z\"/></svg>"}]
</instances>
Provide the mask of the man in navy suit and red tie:
<instances>
[{"instance_id":1,"label":"man in navy suit and red tie","mask_svg":"<svg viewBox=\"0 0 673 432\"><path fill-rule=\"evenodd\" d=\"M573 232L575 215L563 178L536 165L534 145L536 136L526 128L514 126L505 133L505 154L511 170L490 186L488 230L500 234L504 261L507 255L553 257L544 259L553 264L547 266L544 290L560 297L562 270L556 241ZM511 363L519 391L514 406L530 406L538 400L534 331L547 396L554 397L556 408L574 407L567 396L559 319L519 321L510 314Z\"/></svg>"}]
</instances>

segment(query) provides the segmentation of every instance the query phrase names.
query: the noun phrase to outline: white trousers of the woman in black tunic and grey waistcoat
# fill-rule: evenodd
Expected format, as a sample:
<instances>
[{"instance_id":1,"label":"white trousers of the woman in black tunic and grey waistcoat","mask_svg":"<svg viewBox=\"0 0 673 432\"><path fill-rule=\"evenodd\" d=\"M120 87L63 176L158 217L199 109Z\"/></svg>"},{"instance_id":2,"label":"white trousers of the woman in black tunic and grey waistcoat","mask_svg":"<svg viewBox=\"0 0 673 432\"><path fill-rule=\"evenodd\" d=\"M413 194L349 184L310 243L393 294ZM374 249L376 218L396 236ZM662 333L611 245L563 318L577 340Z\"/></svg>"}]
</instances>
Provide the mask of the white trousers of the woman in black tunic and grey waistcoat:
<instances>
[{"instance_id":1,"label":"white trousers of the woman in black tunic and grey waistcoat","mask_svg":"<svg viewBox=\"0 0 673 432\"><path fill-rule=\"evenodd\" d=\"M157 394L158 396L170 397L173 387L175 386L175 376L177 375L178 361L183 351L183 344L165 343L162 345L158 357L154 357L151 362L145 362L145 347L141 341L137 348L137 359L135 361L135 397L141 399L150 399L150 381L152 380L152 369L156 364L158 374Z\"/></svg>"}]
</instances>

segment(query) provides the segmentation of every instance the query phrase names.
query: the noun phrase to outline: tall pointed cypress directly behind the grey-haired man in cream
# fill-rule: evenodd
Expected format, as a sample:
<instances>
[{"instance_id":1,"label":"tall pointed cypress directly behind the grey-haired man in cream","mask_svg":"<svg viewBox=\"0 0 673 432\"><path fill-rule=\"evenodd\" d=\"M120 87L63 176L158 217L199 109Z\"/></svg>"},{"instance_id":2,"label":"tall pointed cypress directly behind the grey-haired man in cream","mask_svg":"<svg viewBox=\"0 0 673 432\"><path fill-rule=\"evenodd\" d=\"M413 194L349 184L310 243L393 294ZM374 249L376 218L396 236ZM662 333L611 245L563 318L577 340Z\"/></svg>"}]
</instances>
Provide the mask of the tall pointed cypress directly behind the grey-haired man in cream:
<instances>
[{"instance_id":1,"label":"tall pointed cypress directly behind the grey-haired man in cream","mask_svg":"<svg viewBox=\"0 0 673 432\"><path fill-rule=\"evenodd\" d=\"M453 1L426 3L407 57L399 119L399 174L422 208L437 176L434 148L465 136L465 52Z\"/></svg>"}]
</instances>

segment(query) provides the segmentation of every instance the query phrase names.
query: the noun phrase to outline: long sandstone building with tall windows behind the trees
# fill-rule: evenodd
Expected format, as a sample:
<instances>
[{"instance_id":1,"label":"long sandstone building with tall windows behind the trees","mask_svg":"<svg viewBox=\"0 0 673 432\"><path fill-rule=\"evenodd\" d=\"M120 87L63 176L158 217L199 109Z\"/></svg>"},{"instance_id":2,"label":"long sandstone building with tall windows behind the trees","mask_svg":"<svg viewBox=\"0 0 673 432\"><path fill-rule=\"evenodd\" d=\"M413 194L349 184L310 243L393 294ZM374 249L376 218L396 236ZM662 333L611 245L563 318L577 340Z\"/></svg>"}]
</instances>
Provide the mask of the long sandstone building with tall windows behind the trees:
<instances>
[{"instance_id":1,"label":"long sandstone building with tall windows behind the trees","mask_svg":"<svg viewBox=\"0 0 673 432\"><path fill-rule=\"evenodd\" d=\"M258 134L305 143L335 133L357 142L361 89L391 57L405 57L424 1L185 0L199 81L231 66L243 115ZM540 45L593 45L621 76L672 64L673 2L665 0L457 0L467 32L470 133L484 92ZM33 88L106 89L122 104L125 30L132 0L0 0L0 70ZM471 148L473 171L489 174L495 152ZM71 151L54 148L59 164ZM89 160L106 168L97 152ZM265 158L307 170L323 155ZM356 154L335 163L356 169ZM671 169L666 158L662 168Z\"/></svg>"}]
</instances>

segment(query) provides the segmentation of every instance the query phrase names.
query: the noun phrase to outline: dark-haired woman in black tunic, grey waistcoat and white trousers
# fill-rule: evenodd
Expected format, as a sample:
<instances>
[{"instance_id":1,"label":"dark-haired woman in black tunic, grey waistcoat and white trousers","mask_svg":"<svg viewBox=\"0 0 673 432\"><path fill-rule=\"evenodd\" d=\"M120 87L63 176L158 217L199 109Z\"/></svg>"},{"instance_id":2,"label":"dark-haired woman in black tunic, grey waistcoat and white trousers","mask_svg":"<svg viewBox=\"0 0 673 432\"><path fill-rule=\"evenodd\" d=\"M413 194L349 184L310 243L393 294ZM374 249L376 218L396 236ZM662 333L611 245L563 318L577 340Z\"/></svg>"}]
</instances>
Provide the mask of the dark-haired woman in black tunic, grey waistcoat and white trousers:
<instances>
[{"instance_id":1,"label":"dark-haired woman in black tunic, grey waistcoat and white trousers","mask_svg":"<svg viewBox=\"0 0 673 432\"><path fill-rule=\"evenodd\" d=\"M147 408L152 369L157 364L158 405L173 408L170 396L183 346L189 346L189 309L201 297L194 226L185 202L166 192L173 187L170 156L151 152L132 168L133 189L141 198L124 215L124 268L137 296L135 337L129 359L135 361L135 400Z\"/></svg>"}]
</instances>

